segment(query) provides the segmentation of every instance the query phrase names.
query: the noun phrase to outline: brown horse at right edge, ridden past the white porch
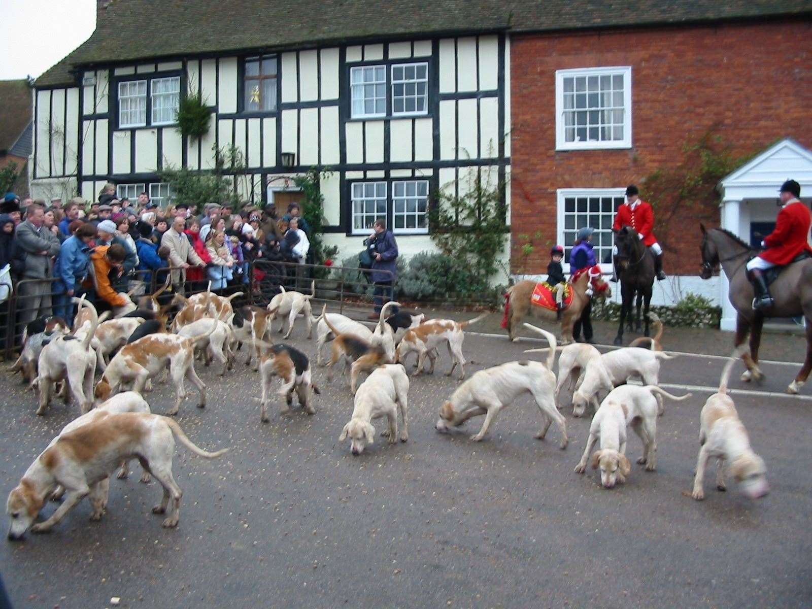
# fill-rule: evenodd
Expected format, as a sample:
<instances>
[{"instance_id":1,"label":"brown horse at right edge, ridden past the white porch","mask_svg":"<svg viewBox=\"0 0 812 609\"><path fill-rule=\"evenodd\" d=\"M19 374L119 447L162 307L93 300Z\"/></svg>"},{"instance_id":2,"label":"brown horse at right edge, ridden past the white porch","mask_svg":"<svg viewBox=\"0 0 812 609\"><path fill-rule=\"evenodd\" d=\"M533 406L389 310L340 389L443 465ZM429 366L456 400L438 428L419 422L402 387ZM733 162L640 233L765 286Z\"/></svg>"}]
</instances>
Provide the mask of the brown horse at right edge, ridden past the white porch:
<instances>
[{"instance_id":1,"label":"brown horse at right edge, ridden past the white porch","mask_svg":"<svg viewBox=\"0 0 812 609\"><path fill-rule=\"evenodd\" d=\"M754 311L753 286L747 279L745 264L758 252L731 232L722 228L702 228L702 279L710 279L713 271L722 266L728 276L728 298L736 308L736 347L750 335L749 352L741 359L747 369L741 380L761 380L764 374L758 368L758 346L761 343L764 317L799 317L806 319L806 361L787 393L796 394L812 370L812 259L793 262L772 283L775 304L766 311Z\"/></svg>"}]
</instances>

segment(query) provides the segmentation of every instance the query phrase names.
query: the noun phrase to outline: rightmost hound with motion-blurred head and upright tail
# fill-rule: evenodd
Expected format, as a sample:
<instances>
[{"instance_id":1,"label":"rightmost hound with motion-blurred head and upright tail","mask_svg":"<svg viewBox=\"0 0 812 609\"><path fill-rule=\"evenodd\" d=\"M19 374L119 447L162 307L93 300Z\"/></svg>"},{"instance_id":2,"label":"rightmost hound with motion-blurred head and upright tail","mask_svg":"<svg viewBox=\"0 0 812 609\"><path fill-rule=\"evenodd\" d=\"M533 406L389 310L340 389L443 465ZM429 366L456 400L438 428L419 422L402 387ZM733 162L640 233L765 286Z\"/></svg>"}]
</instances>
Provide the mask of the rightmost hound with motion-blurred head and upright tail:
<instances>
[{"instance_id":1,"label":"rightmost hound with motion-blurred head and upright tail","mask_svg":"<svg viewBox=\"0 0 812 609\"><path fill-rule=\"evenodd\" d=\"M716 489L726 490L724 465L739 483L741 492L749 499L758 499L770 492L764 461L750 447L745 425L736 412L736 405L728 395L730 371L745 348L733 352L724 366L719 392L711 395L699 413L699 449L697 474L693 478L693 499L705 499L702 488L708 460L716 459Z\"/></svg>"}]
</instances>

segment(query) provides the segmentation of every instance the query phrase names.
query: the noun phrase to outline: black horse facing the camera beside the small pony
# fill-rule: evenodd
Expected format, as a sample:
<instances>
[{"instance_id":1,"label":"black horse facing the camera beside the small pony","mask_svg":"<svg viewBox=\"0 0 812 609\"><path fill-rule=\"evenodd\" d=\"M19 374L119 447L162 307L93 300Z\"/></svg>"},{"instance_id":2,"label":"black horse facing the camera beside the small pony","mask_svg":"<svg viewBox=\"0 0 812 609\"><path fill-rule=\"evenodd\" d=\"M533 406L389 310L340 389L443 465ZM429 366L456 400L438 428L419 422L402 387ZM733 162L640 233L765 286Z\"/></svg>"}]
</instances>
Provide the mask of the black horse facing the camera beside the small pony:
<instances>
[{"instance_id":1,"label":"black horse facing the camera beside the small pony","mask_svg":"<svg viewBox=\"0 0 812 609\"><path fill-rule=\"evenodd\" d=\"M618 267L618 279L620 279L620 297L623 299L615 345L622 345L623 325L627 315L628 330L632 331L632 306L635 298L637 298L635 329L638 332L642 329L640 308L643 305L646 323L646 331L643 334L649 335L649 305L651 292L654 291L654 257L632 227L623 227L617 231L615 244L617 245L615 260Z\"/></svg>"}]
</instances>

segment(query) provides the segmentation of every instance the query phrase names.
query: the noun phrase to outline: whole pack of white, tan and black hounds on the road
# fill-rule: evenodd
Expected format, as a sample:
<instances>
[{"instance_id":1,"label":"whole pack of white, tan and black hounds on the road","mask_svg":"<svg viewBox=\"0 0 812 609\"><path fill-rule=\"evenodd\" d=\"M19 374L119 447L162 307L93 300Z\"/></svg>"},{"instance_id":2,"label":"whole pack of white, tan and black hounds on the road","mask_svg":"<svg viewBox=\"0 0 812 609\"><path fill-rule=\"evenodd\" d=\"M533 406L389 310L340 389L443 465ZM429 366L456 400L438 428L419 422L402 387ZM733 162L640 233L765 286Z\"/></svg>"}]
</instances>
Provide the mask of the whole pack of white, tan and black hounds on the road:
<instances>
[{"instance_id":1,"label":"whole pack of white, tan and black hounds on the road","mask_svg":"<svg viewBox=\"0 0 812 609\"><path fill-rule=\"evenodd\" d=\"M171 418L186 397L186 380L200 393L198 407L205 408L205 384L195 370L197 359L207 366L217 361L222 366L220 374L226 374L244 345L245 364L261 375L262 422L268 421L276 377L281 380L275 395L282 414L291 412L294 395L304 412L315 414L313 394L320 391L313 380L309 357L289 344L272 342L271 330L277 318L280 333L287 319L284 339L291 335L300 315L307 324L308 339L313 338L316 326L316 361L317 365L326 365L327 382L332 382L336 365L345 376L349 374L354 404L339 440L348 440L355 456L374 443L376 419L383 419L380 435L389 443L408 441L407 358L417 354L412 374L424 372L428 359L431 374L443 344L451 357L447 375L457 371L463 382L440 407L434 424L438 432L450 433L470 418L484 415L482 428L471 436L473 441L481 441L503 408L520 395L529 394L541 415L535 437L544 439L555 422L564 449L568 435L561 412L572 406L573 416L581 417L594 410L585 450L575 471L585 473L587 464L591 464L599 470L600 482L607 489L631 474L626 456L628 429L637 434L643 446L637 463L646 471L654 471L657 420L663 416L663 398L685 400L690 396L677 397L659 387L660 365L674 356L663 352L663 325L656 317L653 321L658 331L654 338L637 339L628 348L607 353L587 343L559 347L550 332L525 323L549 342L548 348L527 351L546 352L545 361L510 361L482 369L464 380L464 330L485 314L468 322L426 320L423 313L399 310L399 303L389 302L370 329L342 314L327 313L326 305L314 318L313 284L310 294L282 289L266 308L235 308L232 300L240 292L228 297L210 291L189 298L175 295L166 302L168 295L160 298L165 289L142 296L137 302L127 298L127 307L101 316L84 297L74 299L78 310L71 326L63 319L50 317L32 322L26 329L24 348L11 371L19 372L24 382L38 391L37 415L47 414L56 395L66 404L72 398L81 415L63 428L11 490L6 505L11 521L9 538L23 538L29 529L52 529L85 497L91 505L91 520L101 519L110 476L117 471L117 477L127 477L131 460L137 460L143 469L141 482L154 478L162 486L161 503L153 513L166 514L165 527L178 525L182 492L172 476L175 439L205 459L215 459L228 451L222 448L209 452L197 447ZM171 323L170 311L176 311ZM326 346L329 358L323 358ZM768 492L764 463L750 447L745 426L727 391L737 355L733 353L724 366L719 391L702 408L693 499L704 497L704 472L711 458L717 464L717 489L725 490L727 468L749 498ZM97 371L101 378L96 378ZM359 385L362 374L368 376ZM160 382L160 377L163 382L171 379L175 388L175 404L167 416L153 414L144 399L153 379ZM642 384L637 384L638 379ZM62 503L52 516L37 521L50 500Z\"/></svg>"}]
</instances>

